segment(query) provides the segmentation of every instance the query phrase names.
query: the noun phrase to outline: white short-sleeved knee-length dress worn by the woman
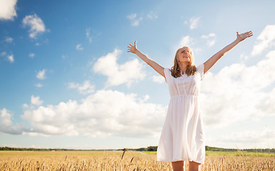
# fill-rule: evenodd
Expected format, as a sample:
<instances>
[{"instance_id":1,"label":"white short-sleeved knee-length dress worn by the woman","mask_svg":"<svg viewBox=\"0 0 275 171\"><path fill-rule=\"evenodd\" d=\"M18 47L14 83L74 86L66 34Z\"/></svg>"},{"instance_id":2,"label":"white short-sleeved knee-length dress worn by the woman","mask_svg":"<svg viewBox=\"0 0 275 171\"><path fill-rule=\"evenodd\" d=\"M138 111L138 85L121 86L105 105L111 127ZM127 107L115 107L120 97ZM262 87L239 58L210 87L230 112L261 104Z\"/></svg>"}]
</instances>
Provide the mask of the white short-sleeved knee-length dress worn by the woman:
<instances>
[{"instance_id":1,"label":"white short-sleeved knee-length dress worn by the woman","mask_svg":"<svg viewBox=\"0 0 275 171\"><path fill-rule=\"evenodd\" d=\"M164 68L171 100L157 148L158 161L180 160L204 164L204 123L199 113L199 90L204 79L204 63L196 67L196 74L171 76Z\"/></svg>"}]
</instances>

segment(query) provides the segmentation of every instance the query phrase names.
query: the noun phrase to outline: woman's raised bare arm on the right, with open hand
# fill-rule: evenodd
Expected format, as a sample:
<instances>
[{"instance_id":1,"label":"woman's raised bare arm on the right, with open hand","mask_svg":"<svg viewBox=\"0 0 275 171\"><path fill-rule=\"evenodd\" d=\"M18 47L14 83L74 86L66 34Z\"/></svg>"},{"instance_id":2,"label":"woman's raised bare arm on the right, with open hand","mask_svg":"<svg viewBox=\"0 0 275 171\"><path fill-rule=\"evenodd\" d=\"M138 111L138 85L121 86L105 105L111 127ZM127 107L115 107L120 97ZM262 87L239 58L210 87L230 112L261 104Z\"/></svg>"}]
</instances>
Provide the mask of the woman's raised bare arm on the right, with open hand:
<instances>
[{"instance_id":1,"label":"woman's raised bare arm on the right, with open hand","mask_svg":"<svg viewBox=\"0 0 275 171\"><path fill-rule=\"evenodd\" d=\"M224 56L225 53L229 52L232 48L234 48L237 44L239 44L241 41L244 41L244 39L253 36L252 31L248 31L246 33L242 33L239 34L239 32L237 32L237 38L235 41L233 41L232 43L230 43L229 45L225 46L223 49L221 49L221 51L217 52L216 54L214 54L214 56L211 56L211 58L209 58L209 60L207 60L204 63L204 73L206 73L207 71L209 71L209 69L214 66L214 64L216 63L216 61L218 61L221 56Z\"/></svg>"}]
</instances>

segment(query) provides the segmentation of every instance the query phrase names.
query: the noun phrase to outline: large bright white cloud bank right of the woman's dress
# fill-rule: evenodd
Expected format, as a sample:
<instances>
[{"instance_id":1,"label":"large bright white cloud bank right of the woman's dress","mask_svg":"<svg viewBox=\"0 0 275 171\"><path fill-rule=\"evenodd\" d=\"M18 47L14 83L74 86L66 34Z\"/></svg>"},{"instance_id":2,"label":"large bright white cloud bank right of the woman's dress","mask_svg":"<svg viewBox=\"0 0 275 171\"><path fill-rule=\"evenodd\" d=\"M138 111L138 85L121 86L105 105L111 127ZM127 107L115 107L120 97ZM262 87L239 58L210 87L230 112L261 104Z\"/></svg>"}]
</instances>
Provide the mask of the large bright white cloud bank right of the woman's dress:
<instances>
[{"instance_id":1,"label":"large bright white cloud bank right of the woman's dress","mask_svg":"<svg viewBox=\"0 0 275 171\"><path fill-rule=\"evenodd\" d=\"M251 118L259 120L265 115L274 115L275 51L266 54L256 65L234 63L219 73L206 73L201 86L201 111L206 125L226 126L236 120Z\"/></svg>"}]
</instances>

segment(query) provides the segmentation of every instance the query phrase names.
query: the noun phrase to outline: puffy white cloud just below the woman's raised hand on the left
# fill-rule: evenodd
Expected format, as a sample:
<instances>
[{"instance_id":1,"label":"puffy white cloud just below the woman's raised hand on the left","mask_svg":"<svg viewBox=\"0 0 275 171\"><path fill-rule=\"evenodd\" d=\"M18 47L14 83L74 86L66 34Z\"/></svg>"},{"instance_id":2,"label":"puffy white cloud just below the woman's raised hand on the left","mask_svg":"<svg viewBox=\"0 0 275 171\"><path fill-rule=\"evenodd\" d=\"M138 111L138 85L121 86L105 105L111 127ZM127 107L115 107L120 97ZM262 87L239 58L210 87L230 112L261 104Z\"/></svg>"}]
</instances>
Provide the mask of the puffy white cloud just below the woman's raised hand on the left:
<instances>
[{"instance_id":1,"label":"puffy white cloud just below the woman's raised hand on the left","mask_svg":"<svg viewBox=\"0 0 275 171\"><path fill-rule=\"evenodd\" d=\"M101 56L94 63L93 70L96 73L101 73L108 77L106 86L119 86L126 83L131 86L131 83L144 79L146 73L142 71L143 65L136 58L132 61L127 61L119 65L116 63L118 56L121 54L119 49L108 53L106 56Z\"/></svg>"}]
</instances>

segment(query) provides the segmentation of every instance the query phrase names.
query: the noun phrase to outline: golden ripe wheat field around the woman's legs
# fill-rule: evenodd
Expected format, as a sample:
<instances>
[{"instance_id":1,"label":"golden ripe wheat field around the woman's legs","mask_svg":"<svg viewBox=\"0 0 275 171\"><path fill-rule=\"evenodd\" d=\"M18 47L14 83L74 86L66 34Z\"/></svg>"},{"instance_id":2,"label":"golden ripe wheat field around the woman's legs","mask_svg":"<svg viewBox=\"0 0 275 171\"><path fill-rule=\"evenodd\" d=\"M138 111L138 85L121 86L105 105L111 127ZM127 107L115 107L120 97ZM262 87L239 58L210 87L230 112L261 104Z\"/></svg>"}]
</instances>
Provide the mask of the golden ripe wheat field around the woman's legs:
<instances>
[{"instance_id":1,"label":"golden ripe wheat field around the woman's legs","mask_svg":"<svg viewBox=\"0 0 275 171\"><path fill-rule=\"evenodd\" d=\"M2 151L0 170L172 170L156 154L126 151ZM123 155L123 158L121 159ZM275 157L207 156L201 170L275 170ZM186 170L187 164L186 162Z\"/></svg>"}]
</instances>

